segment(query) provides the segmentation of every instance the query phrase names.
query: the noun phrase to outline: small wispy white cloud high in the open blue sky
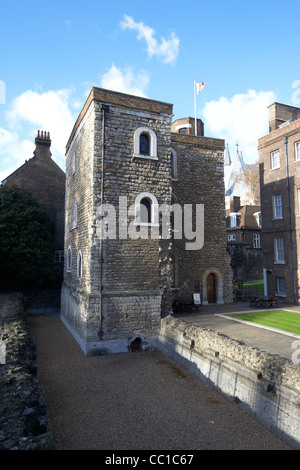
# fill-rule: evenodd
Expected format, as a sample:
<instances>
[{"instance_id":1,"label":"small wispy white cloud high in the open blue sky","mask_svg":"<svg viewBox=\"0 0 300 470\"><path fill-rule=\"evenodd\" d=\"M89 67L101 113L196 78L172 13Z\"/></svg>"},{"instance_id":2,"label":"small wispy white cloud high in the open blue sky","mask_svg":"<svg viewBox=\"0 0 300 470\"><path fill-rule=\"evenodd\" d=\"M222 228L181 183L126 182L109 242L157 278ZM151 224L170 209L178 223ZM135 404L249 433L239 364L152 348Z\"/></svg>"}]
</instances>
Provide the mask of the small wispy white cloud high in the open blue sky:
<instances>
[{"instance_id":1,"label":"small wispy white cloud high in the open blue sky","mask_svg":"<svg viewBox=\"0 0 300 470\"><path fill-rule=\"evenodd\" d=\"M144 39L147 43L149 57L157 56L166 64L174 64L179 52L179 38L171 33L169 39L161 38L161 42L155 38L154 29L144 23L136 23L131 16L124 15L121 21L122 29L131 29L137 32L137 38Z\"/></svg>"}]
</instances>

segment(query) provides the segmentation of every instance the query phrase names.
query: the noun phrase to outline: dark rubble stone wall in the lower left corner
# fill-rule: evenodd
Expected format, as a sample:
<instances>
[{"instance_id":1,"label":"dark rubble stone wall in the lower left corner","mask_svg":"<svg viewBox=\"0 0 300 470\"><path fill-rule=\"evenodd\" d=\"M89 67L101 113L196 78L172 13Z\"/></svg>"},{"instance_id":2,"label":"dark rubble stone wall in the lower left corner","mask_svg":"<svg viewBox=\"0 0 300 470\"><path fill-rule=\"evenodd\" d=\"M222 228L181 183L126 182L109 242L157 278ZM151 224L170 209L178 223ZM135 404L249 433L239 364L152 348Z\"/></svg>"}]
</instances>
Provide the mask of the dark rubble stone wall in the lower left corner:
<instances>
[{"instance_id":1,"label":"dark rubble stone wall in the lower left corner","mask_svg":"<svg viewBox=\"0 0 300 470\"><path fill-rule=\"evenodd\" d=\"M13 293L0 308L0 450L52 449L47 407L37 379L35 344L24 314L23 297ZM3 364L3 362L5 362Z\"/></svg>"}]
</instances>

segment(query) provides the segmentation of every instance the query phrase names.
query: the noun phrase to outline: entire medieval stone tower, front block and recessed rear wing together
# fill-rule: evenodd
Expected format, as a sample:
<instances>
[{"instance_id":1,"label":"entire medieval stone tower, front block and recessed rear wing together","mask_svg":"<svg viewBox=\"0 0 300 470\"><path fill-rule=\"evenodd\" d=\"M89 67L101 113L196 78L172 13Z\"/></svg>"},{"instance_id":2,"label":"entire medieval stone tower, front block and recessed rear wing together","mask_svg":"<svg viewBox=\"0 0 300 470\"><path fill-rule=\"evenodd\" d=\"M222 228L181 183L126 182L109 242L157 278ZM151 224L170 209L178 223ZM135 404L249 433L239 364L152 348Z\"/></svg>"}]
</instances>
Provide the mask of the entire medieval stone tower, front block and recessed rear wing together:
<instances>
[{"instance_id":1,"label":"entire medieval stone tower, front block and recessed rear wing together","mask_svg":"<svg viewBox=\"0 0 300 470\"><path fill-rule=\"evenodd\" d=\"M61 318L86 354L155 347L174 299L232 300L224 141L172 133L172 116L93 88L68 140Z\"/></svg>"}]
</instances>

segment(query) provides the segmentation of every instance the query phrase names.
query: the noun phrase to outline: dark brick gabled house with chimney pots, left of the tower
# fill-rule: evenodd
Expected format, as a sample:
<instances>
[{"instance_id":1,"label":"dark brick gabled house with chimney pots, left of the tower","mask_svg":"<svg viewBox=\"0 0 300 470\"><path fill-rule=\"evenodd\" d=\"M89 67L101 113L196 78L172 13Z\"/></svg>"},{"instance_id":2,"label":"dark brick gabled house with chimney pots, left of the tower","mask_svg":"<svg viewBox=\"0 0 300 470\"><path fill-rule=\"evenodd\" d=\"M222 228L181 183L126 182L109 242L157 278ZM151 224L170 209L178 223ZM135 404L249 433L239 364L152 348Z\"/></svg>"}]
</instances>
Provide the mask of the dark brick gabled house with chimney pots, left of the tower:
<instances>
[{"instance_id":1,"label":"dark brick gabled house with chimney pots, left of the tower","mask_svg":"<svg viewBox=\"0 0 300 470\"><path fill-rule=\"evenodd\" d=\"M45 207L55 223L55 260L63 263L66 175L52 160L50 147L49 132L38 131L33 157L7 176L2 184L18 186Z\"/></svg>"}]
</instances>

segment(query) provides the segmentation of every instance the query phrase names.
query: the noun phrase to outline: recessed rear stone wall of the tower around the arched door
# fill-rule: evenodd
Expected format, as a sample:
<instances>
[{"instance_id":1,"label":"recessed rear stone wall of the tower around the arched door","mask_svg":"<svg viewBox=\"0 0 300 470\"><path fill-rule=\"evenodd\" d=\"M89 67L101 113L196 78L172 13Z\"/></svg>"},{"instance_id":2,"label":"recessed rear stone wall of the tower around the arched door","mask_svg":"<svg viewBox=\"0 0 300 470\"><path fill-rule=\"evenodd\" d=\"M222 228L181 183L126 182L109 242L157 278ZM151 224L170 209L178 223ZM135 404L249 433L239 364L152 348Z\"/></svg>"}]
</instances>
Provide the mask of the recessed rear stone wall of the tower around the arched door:
<instances>
[{"instance_id":1,"label":"recessed rear stone wall of the tower around the arched door","mask_svg":"<svg viewBox=\"0 0 300 470\"><path fill-rule=\"evenodd\" d=\"M182 207L184 204L204 205L203 247L188 251L185 246L188 240L173 240L177 288L174 298L192 296L200 288L201 298L206 302L206 277L213 272L217 281L216 301L230 302L232 271L225 238L224 141L172 134L172 148L177 155L173 203Z\"/></svg>"}]
</instances>

